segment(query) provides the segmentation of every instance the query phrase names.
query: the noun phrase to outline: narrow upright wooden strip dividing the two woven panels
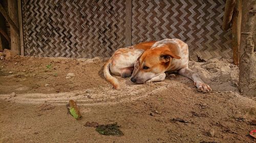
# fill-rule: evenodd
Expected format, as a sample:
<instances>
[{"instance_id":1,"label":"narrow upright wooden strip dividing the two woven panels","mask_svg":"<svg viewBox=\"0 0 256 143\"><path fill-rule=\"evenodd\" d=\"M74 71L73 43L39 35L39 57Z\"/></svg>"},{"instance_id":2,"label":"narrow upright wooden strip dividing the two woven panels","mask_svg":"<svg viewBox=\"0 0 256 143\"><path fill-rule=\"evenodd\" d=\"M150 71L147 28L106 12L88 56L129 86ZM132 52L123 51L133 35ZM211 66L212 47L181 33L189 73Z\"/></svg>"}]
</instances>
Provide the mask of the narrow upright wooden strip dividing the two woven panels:
<instances>
[{"instance_id":1,"label":"narrow upright wooden strip dividing the two woven panels","mask_svg":"<svg viewBox=\"0 0 256 143\"><path fill-rule=\"evenodd\" d=\"M132 0L125 1L125 46L132 45Z\"/></svg>"}]
</instances>

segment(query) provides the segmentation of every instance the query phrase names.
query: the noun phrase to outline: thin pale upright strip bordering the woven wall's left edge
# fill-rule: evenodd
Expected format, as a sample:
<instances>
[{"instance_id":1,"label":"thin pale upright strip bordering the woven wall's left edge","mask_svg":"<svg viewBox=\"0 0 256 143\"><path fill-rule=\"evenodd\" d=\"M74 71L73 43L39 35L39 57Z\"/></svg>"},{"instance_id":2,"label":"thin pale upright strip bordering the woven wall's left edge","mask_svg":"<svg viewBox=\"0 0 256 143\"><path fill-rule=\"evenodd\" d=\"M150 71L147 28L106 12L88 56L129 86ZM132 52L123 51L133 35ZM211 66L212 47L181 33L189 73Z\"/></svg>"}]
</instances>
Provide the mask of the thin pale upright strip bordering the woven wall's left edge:
<instances>
[{"instance_id":1,"label":"thin pale upright strip bordering the woven wall's left edge","mask_svg":"<svg viewBox=\"0 0 256 143\"><path fill-rule=\"evenodd\" d=\"M18 25L19 25L20 55L24 56L25 51L24 51L24 37L23 37L22 1L18 1Z\"/></svg>"}]
</instances>

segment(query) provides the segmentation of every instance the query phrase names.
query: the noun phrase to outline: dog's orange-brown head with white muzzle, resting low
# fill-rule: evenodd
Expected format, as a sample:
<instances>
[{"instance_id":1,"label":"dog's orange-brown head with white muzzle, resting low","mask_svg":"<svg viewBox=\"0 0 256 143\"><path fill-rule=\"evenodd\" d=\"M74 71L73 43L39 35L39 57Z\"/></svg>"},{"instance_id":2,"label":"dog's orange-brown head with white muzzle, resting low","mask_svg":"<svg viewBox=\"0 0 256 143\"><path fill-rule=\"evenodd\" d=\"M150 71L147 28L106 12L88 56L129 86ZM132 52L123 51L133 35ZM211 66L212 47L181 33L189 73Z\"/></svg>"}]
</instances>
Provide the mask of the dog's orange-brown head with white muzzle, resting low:
<instances>
[{"instance_id":1,"label":"dog's orange-brown head with white muzzle, resting low","mask_svg":"<svg viewBox=\"0 0 256 143\"><path fill-rule=\"evenodd\" d=\"M161 45L156 48L145 50L134 64L131 81L144 83L151 78L164 73L172 63L172 59L180 59L169 46Z\"/></svg>"}]
</instances>

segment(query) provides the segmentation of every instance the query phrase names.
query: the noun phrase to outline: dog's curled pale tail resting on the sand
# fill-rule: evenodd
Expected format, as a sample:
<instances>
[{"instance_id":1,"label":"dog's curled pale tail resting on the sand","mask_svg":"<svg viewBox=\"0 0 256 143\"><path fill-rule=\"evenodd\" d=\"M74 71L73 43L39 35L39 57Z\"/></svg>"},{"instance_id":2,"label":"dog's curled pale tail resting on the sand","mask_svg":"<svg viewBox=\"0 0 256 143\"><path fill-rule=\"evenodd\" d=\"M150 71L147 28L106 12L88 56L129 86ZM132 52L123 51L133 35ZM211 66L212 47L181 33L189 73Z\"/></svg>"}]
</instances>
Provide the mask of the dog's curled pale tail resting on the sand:
<instances>
[{"instance_id":1,"label":"dog's curled pale tail resting on the sand","mask_svg":"<svg viewBox=\"0 0 256 143\"><path fill-rule=\"evenodd\" d=\"M111 59L108 62L106 62L105 66L104 66L103 73L104 73L106 80L109 81L114 86L114 88L117 90L117 89L119 89L119 82L115 77L113 77L110 74L110 64L111 64Z\"/></svg>"}]
</instances>

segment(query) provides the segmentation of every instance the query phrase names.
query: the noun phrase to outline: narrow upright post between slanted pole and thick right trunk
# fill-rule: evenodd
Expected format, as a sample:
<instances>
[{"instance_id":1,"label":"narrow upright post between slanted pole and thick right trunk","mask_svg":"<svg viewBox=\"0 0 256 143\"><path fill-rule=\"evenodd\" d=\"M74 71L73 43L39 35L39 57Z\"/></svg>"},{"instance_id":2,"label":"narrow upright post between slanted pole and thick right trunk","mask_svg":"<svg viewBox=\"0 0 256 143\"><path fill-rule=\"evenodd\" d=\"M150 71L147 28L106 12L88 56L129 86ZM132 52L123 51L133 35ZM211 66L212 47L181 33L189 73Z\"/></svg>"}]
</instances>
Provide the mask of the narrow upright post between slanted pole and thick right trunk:
<instances>
[{"instance_id":1,"label":"narrow upright post between slanted pole and thick right trunk","mask_svg":"<svg viewBox=\"0 0 256 143\"><path fill-rule=\"evenodd\" d=\"M232 16L232 47L233 47L233 63L239 65L239 48L241 37L241 20L242 20L242 0L237 0L236 7Z\"/></svg>"}]
</instances>

